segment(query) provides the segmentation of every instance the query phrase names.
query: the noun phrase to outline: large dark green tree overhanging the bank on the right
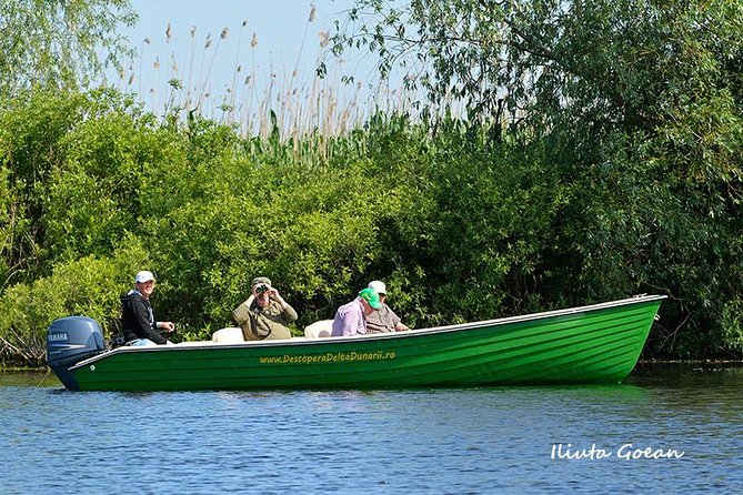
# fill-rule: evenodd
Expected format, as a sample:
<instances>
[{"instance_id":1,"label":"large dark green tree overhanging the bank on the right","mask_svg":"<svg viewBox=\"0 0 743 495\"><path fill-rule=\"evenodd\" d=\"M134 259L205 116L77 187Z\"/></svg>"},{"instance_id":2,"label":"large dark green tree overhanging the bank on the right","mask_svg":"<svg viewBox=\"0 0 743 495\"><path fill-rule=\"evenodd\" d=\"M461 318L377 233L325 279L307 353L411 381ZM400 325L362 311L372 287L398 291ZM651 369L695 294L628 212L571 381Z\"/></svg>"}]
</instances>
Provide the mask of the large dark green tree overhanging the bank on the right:
<instances>
[{"instance_id":1,"label":"large dark green tree overhanging the bank on the right","mask_svg":"<svg viewBox=\"0 0 743 495\"><path fill-rule=\"evenodd\" d=\"M656 352L740 355L742 1L358 0L338 26L334 51L376 52L424 114L459 100L543 150L573 191L542 253L552 301L667 293Z\"/></svg>"}]
</instances>

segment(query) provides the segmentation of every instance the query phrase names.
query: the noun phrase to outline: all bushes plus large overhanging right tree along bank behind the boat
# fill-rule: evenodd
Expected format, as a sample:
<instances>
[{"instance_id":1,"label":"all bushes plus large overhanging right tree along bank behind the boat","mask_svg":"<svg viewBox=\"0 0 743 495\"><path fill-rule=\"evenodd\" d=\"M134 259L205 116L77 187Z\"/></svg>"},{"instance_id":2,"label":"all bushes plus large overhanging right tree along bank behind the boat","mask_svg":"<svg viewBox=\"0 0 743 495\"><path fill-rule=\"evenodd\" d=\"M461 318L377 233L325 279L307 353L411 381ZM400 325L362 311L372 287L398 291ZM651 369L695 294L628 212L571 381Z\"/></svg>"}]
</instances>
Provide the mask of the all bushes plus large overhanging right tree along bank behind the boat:
<instances>
[{"instance_id":1,"label":"all bushes plus large overhanging right tree along bank behind the boat","mask_svg":"<svg viewBox=\"0 0 743 495\"><path fill-rule=\"evenodd\" d=\"M116 334L140 269L182 340L231 325L257 275L298 331L380 279L413 327L662 293L645 357L743 356L743 2L376 13L335 51L370 47L382 71L412 53L428 99L339 135L3 85L3 363L42 363L59 316Z\"/></svg>"}]
</instances>

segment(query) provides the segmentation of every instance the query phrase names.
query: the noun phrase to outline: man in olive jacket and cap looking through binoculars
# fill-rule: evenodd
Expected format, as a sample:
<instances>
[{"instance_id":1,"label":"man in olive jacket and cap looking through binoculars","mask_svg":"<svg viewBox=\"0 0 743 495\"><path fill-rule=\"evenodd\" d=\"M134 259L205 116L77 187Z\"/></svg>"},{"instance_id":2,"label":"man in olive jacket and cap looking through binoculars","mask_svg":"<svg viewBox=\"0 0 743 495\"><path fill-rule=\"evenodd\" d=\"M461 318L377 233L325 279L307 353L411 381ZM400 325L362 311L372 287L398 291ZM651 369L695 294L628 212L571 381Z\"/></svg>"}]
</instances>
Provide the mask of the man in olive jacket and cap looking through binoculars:
<instances>
[{"instance_id":1,"label":"man in olive jacket and cap looking through binoculars","mask_svg":"<svg viewBox=\"0 0 743 495\"><path fill-rule=\"evenodd\" d=\"M253 279L251 296L232 312L247 341L263 339L291 339L289 322L297 320L297 312L284 301L265 276Z\"/></svg>"}]
</instances>

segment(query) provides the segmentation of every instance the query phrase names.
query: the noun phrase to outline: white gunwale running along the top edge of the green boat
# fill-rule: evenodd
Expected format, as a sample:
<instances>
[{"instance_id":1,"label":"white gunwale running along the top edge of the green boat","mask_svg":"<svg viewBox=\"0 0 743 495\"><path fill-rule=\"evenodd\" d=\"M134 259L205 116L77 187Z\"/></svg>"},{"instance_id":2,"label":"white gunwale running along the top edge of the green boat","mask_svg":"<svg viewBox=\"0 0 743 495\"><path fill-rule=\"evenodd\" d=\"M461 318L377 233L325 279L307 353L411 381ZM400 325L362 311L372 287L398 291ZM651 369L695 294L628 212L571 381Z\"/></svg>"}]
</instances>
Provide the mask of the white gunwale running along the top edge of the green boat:
<instances>
[{"instance_id":1,"label":"white gunwale running along the top edge of the green boat","mask_svg":"<svg viewBox=\"0 0 743 495\"><path fill-rule=\"evenodd\" d=\"M412 339L412 337L420 337L420 336L425 336L425 335L431 335L431 334L439 334L439 333L452 333L452 332L461 332L461 331L469 331L469 330L475 330L475 329L482 329L482 327L489 327L489 326L502 326L502 325L508 325L508 324L513 324L513 323L523 323L523 322L531 322L531 321L536 321L536 320L546 320L546 319L552 319L552 317L560 317L560 316L570 316L570 315L575 315L580 313L586 313L586 312L595 312L595 311L601 311L601 310L608 310L612 307L619 307L619 306L625 306L625 305L634 305L634 304L640 304L640 303L646 303L646 302L652 302L652 301L662 301L666 299L666 295L636 295L623 300L616 300L616 301L610 301L610 302L603 302L603 303L596 303L596 304L590 304L585 306L575 306L575 307L568 307L563 310L552 310L552 311L544 311L540 313L529 313L524 315L516 315L516 316L505 316L501 319L493 319L493 320L484 320L484 321L479 321L479 322L472 322L472 323L456 323L456 324L451 324L451 325L442 325L442 326L432 326L432 327L426 327L426 329L415 329L415 330L410 330L405 332L394 332L394 333L375 333L375 334L368 334L368 335L352 335L352 336L334 336L334 337L319 337L319 339L305 339L305 337L293 337L291 340L264 340L264 341L245 341L245 342L240 342L240 343L230 343L230 344L224 344L224 343L219 343L219 342L211 342L211 341L203 341L203 343L200 342L193 342L191 345L180 345L180 344L174 344L174 345L151 345L151 346L121 346L112 350L107 350L101 352L100 354L96 354L94 356L88 357L87 360L83 360L72 366L69 367L69 371L76 371L80 367L88 366L90 364L97 363L101 360L109 358L113 355L117 354L125 354L125 353L149 353L149 352L187 352L187 351L204 351L204 350L213 350L213 348L248 348L248 347L294 347L294 346L318 346L318 345L337 345L337 344L342 344L342 343L349 343L349 342L360 342L360 341L381 341L381 340L390 340L390 339Z\"/></svg>"}]
</instances>

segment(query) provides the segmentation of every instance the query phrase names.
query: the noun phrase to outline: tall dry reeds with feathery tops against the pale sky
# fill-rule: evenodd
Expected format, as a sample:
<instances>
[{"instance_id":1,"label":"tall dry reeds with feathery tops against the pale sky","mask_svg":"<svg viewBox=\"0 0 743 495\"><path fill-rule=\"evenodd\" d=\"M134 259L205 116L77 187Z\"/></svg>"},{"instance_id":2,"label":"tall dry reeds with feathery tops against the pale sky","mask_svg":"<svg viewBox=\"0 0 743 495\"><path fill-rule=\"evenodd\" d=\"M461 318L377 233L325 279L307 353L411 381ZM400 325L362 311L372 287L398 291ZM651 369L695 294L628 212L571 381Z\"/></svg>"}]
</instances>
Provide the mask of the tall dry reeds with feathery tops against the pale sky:
<instances>
[{"instance_id":1,"label":"tall dry reeds with feathery tops against the pale sky","mask_svg":"<svg viewBox=\"0 0 743 495\"><path fill-rule=\"evenodd\" d=\"M217 38L211 33L201 34L198 27L192 27L189 53L183 58L171 49L174 27L169 22L161 36L170 52L154 52L151 40L155 37L147 37L138 60L131 60L128 70L118 74L116 87L134 93L154 114L175 114L184 119L194 112L233 125L243 137L268 139L278 131L282 142L291 141L295 147L308 135L349 132L362 125L370 112L410 112L415 95L374 79L371 68L363 74L365 78L343 82L344 74L351 71L344 60L328 54L328 32L319 30L317 44L312 46L315 17L312 6L297 60L291 64L271 60L268 67L257 63L259 50L263 48L260 34L250 30L248 20L240 23L234 36L225 27ZM315 51L313 64L303 72L302 62L312 49ZM220 87L213 80L215 67L231 57L234 57L231 73L225 79L228 82ZM161 63L165 60L169 63ZM179 63L181 60L185 63ZM321 62L329 68L324 78L315 73Z\"/></svg>"}]
</instances>

